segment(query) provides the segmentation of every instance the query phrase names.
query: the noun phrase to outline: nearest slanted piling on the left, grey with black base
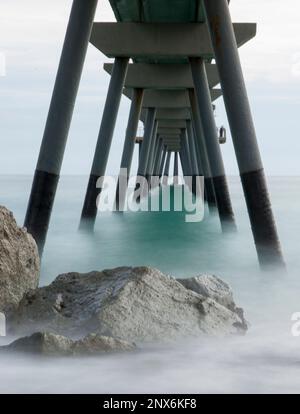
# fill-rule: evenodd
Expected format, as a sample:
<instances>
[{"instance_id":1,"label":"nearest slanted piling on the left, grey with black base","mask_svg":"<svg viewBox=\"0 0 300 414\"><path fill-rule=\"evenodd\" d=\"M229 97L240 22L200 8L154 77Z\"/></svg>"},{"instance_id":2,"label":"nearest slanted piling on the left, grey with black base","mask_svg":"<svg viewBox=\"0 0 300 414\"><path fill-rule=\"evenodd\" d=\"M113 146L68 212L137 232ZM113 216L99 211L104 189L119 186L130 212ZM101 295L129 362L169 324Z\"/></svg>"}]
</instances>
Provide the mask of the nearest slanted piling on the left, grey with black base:
<instances>
[{"instance_id":1,"label":"nearest slanted piling on the left, grey with black base","mask_svg":"<svg viewBox=\"0 0 300 414\"><path fill-rule=\"evenodd\" d=\"M98 0L74 0L24 226L42 255Z\"/></svg>"}]
</instances>

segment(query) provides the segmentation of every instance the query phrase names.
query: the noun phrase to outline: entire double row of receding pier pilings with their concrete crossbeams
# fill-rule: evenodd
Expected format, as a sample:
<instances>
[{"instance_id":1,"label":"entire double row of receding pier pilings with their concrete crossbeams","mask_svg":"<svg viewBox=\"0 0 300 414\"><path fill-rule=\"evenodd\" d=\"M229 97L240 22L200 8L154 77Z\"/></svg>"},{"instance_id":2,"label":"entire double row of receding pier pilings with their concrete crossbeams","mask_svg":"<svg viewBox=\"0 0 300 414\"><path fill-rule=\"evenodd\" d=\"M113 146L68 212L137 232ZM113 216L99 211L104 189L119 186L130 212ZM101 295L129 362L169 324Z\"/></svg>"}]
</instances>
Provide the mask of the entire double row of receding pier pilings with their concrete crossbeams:
<instances>
[{"instance_id":1,"label":"entire double row of receding pier pilings with their concrete crossbeams","mask_svg":"<svg viewBox=\"0 0 300 414\"><path fill-rule=\"evenodd\" d=\"M259 262L284 265L258 150L238 47L255 36L253 24L232 24L227 0L203 0L206 23L96 23L97 0L74 0L55 82L25 226L40 253L46 239L65 145L89 40L114 64L81 225L93 228L98 179L106 173L122 93L131 99L121 172L131 171L139 121L144 122L138 177L167 176L174 152L183 173L205 179L205 199L223 231L236 230L212 102L223 94ZM147 28L147 29L146 29ZM146 29L146 30L145 30ZM155 33L155 36L153 36ZM132 59L135 63L130 63ZM160 63L161 59L164 63ZM212 59L216 64L212 64ZM139 63L137 63L139 62ZM167 62L167 63L166 63ZM180 63L178 63L180 62ZM221 90L215 89L221 84ZM122 210L124 196L116 207Z\"/></svg>"}]
</instances>

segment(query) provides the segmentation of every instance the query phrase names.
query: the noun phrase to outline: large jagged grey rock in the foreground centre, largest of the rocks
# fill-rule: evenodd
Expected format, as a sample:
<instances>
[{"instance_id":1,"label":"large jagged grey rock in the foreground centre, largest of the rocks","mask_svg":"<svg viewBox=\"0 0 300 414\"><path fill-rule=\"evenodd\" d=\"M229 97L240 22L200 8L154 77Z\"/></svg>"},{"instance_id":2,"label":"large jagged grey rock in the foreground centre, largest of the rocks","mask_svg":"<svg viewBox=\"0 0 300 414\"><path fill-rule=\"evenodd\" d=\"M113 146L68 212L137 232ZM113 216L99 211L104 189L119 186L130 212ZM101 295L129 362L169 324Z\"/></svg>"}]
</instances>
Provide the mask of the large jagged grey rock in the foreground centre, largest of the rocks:
<instances>
[{"instance_id":1,"label":"large jagged grey rock in the foreground centre, largest of the rocks","mask_svg":"<svg viewBox=\"0 0 300 414\"><path fill-rule=\"evenodd\" d=\"M8 329L153 342L244 333L247 325L229 286L214 276L177 281L156 269L123 267L58 276L22 299Z\"/></svg>"}]
</instances>

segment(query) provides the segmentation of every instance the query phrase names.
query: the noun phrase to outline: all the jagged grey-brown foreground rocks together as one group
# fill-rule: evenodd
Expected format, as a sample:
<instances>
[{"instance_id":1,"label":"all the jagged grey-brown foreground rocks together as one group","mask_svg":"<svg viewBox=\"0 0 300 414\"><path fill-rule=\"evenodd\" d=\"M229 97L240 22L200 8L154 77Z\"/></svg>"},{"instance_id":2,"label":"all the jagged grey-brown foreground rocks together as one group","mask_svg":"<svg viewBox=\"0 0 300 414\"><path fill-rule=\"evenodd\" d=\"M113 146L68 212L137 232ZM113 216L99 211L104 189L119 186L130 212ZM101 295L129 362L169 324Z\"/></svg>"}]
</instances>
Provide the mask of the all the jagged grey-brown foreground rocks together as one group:
<instances>
[{"instance_id":1,"label":"all the jagged grey-brown foreground rocks together as one group","mask_svg":"<svg viewBox=\"0 0 300 414\"><path fill-rule=\"evenodd\" d=\"M34 240L8 210L0 207L0 215L0 311L8 335L18 338L3 352L95 355L247 331L230 287L212 275L179 280L149 267L119 267L66 273L38 288Z\"/></svg>"}]
</instances>

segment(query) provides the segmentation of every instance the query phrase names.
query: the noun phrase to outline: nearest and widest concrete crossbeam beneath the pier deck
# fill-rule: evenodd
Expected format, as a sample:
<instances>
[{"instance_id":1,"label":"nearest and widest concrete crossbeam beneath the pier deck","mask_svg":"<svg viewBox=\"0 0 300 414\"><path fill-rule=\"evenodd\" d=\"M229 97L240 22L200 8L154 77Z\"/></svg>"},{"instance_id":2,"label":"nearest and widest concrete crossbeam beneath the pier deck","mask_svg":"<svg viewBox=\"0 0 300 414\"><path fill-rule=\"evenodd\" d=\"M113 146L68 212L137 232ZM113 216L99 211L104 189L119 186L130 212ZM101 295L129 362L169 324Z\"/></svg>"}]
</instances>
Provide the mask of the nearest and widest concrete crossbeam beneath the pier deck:
<instances>
[{"instance_id":1,"label":"nearest and widest concrete crossbeam beneath the pier deck","mask_svg":"<svg viewBox=\"0 0 300 414\"><path fill-rule=\"evenodd\" d=\"M256 35L255 23L233 27L238 46ZM110 58L214 57L205 23L94 23L90 42Z\"/></svg>"}]
</instances>

